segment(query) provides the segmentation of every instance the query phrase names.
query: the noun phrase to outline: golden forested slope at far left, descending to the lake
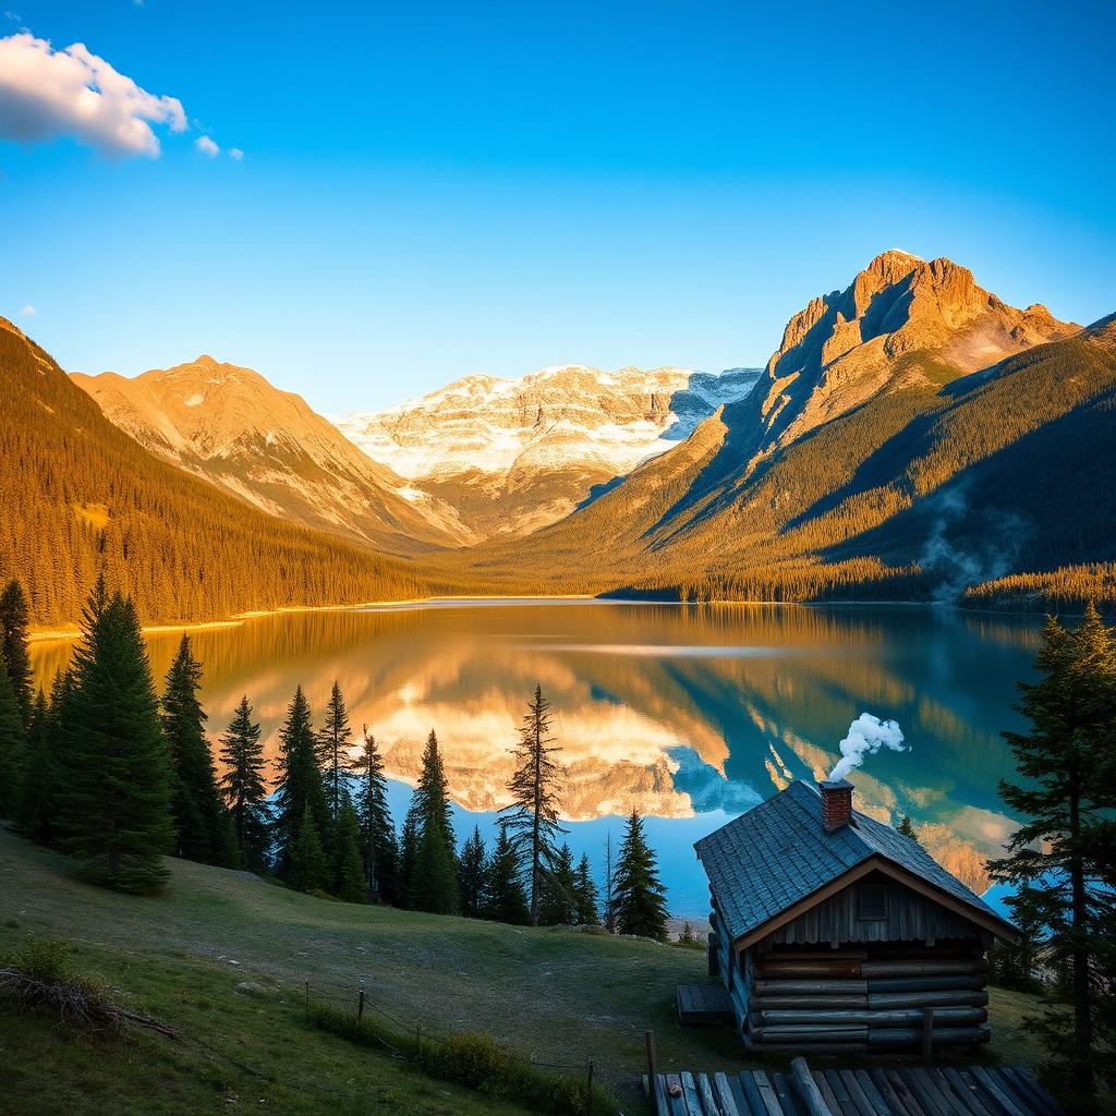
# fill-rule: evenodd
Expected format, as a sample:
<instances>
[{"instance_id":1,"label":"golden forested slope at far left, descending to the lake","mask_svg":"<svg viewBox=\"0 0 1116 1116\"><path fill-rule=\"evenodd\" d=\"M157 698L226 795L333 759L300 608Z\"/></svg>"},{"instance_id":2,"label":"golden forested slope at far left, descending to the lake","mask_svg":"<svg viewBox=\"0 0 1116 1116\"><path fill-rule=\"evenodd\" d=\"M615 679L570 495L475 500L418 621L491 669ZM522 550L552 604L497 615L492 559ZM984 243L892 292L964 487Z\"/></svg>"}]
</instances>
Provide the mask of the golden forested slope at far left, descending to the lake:
<instances>
[{"instance_id":1,"label":"golden forested slope at far left, descending to the lake","mask_svg":"<svg viewBox=\"0 0 1116 1116\"><path fill-rule=\"evenodd\" d=\"M0 581L69 623L98 571L157 620L452 591L421 567L285 522L158 460L0 318Z\"/></svg>"}]
</instances>

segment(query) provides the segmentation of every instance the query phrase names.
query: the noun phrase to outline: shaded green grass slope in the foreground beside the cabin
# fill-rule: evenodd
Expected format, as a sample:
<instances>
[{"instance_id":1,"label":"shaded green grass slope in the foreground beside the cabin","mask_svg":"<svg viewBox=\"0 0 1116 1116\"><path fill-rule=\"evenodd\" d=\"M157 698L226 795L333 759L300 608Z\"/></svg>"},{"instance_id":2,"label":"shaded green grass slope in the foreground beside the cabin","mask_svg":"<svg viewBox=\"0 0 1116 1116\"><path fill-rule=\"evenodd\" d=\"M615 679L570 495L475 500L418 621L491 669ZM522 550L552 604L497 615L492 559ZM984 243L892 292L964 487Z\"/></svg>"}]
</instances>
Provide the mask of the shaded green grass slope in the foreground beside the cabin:
<instances>
[{"instance_id":1,"label":"shaded green grass slope in the foreground beside the cabin","mask_svg":"<svg viewBox=\"0 0 1116 1116\"><path fill-rule=\"evenodd\" d=\"M739 1071L729 1028L680 1028L674 988L704 980L696 951L570 931L530 930L299 895L247 873L170 862L165 894L119 895L80 883L70 863L0 828L0 954L65 939L75 966L124 1007L189 1037L109 1041L0 1008L6 1096L20 1116L232 1110L522 1112L425 1077L308 1026L305 982L320 1002L386 1009L429 1033L487 1031L523 1056L584 1067L642 1110L644 1031L664 1070ZM249 981L262 992L246 994ZM992 990L992 1050L1035 1051L1021 1024L1033 1001ZM249 1070L256 1070L257 1074ZM3 1106L0 1105L0 1110Z\"/></svg>"}]
</instances>

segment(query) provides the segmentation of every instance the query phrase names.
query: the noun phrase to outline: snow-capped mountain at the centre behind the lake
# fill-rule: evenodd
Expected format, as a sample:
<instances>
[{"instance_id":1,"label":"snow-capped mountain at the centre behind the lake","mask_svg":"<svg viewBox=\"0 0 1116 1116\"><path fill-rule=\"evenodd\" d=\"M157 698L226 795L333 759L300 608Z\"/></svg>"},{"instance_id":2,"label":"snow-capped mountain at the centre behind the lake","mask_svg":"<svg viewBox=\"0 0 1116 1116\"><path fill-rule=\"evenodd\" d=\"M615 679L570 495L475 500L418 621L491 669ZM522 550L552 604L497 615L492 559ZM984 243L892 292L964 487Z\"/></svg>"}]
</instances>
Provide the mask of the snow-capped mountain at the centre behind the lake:
<instances>
[{"instance_id":1,"label":"snow-capped mountain at the centre behind the lake","mask_svg":"<svg viewBox=\"0 0 1116 1116\"><path fill-rule=\"evenodd\" d=\"M583 365L519 379L473 375L383 411L337 420L375 461L456 509L480 537L546 527L676 445L762 369Z\"/></svg>"}]
</instances>

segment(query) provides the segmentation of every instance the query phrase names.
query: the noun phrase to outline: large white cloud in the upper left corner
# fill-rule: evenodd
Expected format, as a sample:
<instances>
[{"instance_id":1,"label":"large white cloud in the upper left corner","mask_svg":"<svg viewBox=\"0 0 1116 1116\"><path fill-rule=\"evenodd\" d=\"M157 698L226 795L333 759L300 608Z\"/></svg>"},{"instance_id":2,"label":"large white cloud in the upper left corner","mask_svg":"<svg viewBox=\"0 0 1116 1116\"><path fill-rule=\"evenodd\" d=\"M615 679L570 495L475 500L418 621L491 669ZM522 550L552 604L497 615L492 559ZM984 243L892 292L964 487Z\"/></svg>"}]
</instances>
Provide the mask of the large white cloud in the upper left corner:
<instances>
[{"instance_id":1,"label":"large white cloud in the upper left corner","mask_svg":"<svg viewBox=\"0 0 1116 1116\"><path fill-rule=\"evenodd\" d=\"M0 138L73 135L106 155L157 158L152 124L184 132L182 103L142 89L84 44L55 50L27 31L0 39Z\"/></svg>"}]
</instances>

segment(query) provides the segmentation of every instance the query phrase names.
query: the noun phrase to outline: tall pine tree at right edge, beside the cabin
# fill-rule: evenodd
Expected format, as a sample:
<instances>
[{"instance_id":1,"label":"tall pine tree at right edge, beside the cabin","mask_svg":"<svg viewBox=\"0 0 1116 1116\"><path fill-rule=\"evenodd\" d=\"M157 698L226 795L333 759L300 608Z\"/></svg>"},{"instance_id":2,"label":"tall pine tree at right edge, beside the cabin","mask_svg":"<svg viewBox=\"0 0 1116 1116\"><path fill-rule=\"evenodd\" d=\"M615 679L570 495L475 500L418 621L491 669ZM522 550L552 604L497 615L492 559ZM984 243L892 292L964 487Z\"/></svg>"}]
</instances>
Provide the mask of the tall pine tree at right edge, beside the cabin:
<instances>
[{"instance_id":1,"label":"tall pine tree at right edge, beside the cabin","mask_svg":"<svg viewBox=\"0 0 1116 1116\"><path fill-rule=\"evenodd\" d=\"M1047 1046L1045 1074L1067 1109L1094 1112L1097 1077L1113 1079L1116 1001L1098 977L1110 962L1112 754L1116 749L1116 639L1090 605L1076 632L1049 618L1036 660L1040 679L1020 683L1027 734L1006 732L1023 786L1001 782L1027 818L1008 856L989 865L1019 888L1017 917L1043 930L1050 968L1065 968L1071 1019L1032 1020Z\"/></svg>"}]
</instances>

